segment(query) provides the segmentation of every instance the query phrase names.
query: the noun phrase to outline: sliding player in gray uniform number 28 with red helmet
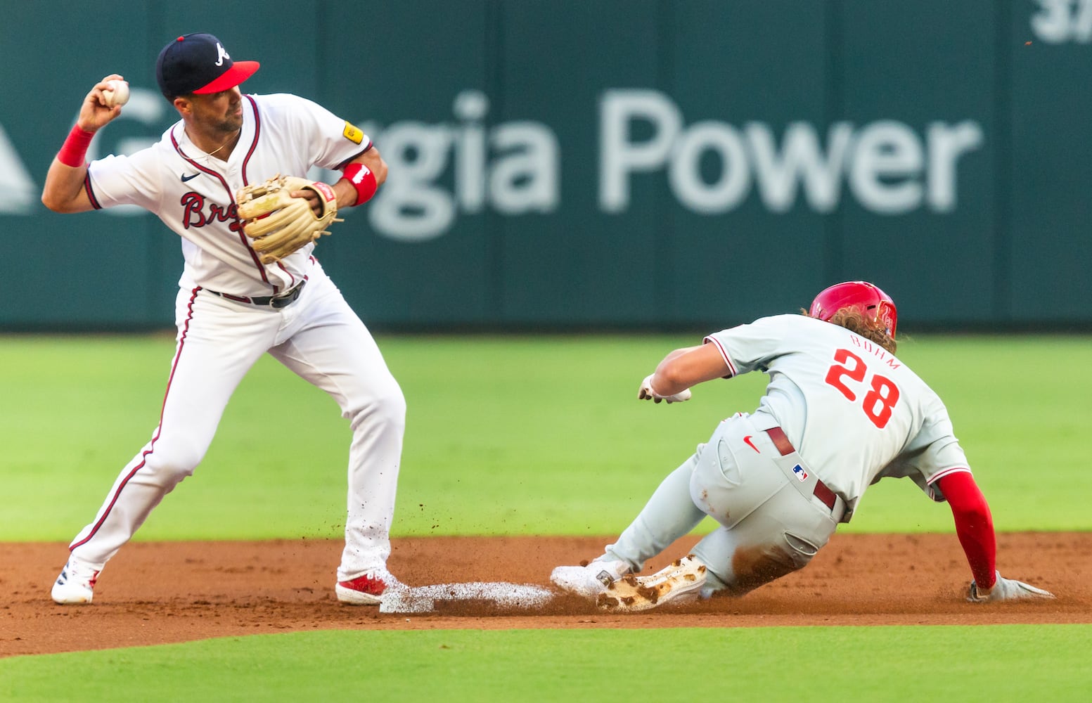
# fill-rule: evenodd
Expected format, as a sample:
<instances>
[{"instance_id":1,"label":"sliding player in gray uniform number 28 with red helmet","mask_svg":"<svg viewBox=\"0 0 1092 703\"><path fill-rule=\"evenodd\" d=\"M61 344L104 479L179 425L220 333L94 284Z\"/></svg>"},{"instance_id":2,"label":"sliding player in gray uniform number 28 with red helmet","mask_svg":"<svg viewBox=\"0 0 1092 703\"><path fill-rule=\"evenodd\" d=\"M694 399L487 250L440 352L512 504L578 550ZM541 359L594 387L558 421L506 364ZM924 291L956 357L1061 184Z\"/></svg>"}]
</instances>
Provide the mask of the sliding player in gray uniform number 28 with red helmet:
<instances>
[{"instance_id":1,"label":"sliding player in gray uniform number 28 with red helmet","mask_svg":"<svg viewBox=\"0 0 1092 703\"><path fill-rule=\"evenodd\" d=\"M602 556L556 568L554 584L618 611L743 595L811 561L868 486L909 477L952 510L970 600L1052 598L997 572L989 508L943 403L894 356L897 320L887 294L847 282L822 290L808 315L762 318L668 354L641 400L687 401L698 383L755 370L770 377L765 395L723 420ZM705 515L720 525L691 555L633 575Z\"/></svg>"}]
</instances>

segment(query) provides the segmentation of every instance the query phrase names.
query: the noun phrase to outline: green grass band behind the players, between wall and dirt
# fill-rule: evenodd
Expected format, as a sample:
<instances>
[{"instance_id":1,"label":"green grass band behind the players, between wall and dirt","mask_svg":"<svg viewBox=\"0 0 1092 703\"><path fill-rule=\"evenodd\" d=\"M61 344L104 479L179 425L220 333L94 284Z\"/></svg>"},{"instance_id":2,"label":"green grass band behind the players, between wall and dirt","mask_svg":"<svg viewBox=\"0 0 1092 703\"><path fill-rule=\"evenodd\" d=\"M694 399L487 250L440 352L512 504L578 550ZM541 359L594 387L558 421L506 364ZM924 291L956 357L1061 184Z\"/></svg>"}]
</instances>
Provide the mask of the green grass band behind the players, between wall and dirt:
<instances>
[{"instance_id":1,"label":"green grass band behind the players, between wall and dirt","mask_svg":"<svg viewBox=\"0 0 1092 703\"><path fill-rule=\"evenodd\" d=\"M380 335L408 403L395 536L617 533L720 419L757 406L760 373L685 404L636 400L666 352L695 342ZM1092 492L1088 337L923 336L900 352L947 402L998 529L1092 528L1071 500ZM0 539L67 540L91 520L155 428L173 353L169 336L0 337ZM339 538L347 444L333 401L265 358L138 539ZM951 529L909 480L870 488L843 527Z\"/></svg>"}]
</instances>

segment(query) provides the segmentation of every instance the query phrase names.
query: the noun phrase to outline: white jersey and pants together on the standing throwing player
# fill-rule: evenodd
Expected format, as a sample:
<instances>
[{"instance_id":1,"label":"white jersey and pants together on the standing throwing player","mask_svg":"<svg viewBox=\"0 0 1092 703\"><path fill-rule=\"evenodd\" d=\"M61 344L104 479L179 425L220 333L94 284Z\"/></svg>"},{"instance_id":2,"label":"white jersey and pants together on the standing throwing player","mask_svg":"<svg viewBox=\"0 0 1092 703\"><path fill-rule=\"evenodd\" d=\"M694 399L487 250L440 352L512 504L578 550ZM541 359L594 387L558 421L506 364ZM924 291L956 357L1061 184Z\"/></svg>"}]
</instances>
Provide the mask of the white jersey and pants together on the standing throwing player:
<instances>
[{"instance_id":1,"label":"white jersey and pants together on the standing throwing player","mask_svg":"<svg viewBox=\"0 0 1092 703\"><path fill-rule=\"evenodd\" d=\"M159 424L70 549L82 563L102 569L152 509L193 473L238 383L270 354L329 393L348 420L353 440L337 580L378 574L382 581L389 577L405 398L370 332L311 255L313 245L262 265L235 203L244 186L276 174L302 176L312 166L337 168L371 142L294 95L244 96L242 115L239 142L227 160L199 151L177 122L153 146L88 167L84 187L92 204L134 204L155 213L182 238L186 266ZM296 287L286 305L252 300L268 300L304 281L307 285Z\"/></svg>"}]
</instances>

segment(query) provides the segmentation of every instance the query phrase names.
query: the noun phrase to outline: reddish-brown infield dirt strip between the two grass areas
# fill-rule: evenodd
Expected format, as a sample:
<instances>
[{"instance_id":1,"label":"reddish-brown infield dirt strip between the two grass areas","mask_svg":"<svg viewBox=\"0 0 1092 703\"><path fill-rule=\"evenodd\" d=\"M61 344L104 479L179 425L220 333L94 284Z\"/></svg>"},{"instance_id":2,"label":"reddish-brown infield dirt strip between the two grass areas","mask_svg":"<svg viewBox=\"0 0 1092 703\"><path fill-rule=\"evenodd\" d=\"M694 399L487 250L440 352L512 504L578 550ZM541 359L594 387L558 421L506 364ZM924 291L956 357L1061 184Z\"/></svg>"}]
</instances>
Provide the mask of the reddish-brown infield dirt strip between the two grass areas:
<instances>
[{"instance_id":1,"label":"reddish-brown infield dirt strip between the two grass areas","mask_svg":"<svg viewBox=\"0 0 1092 703\"><path fill-rule=\"evenodd\" d=\"M558 564L602 552L603 537L395 538L389 565L410 585L549 585ZM676 543L643 573L687 552ZM49 587L63 544L0 544L0 656L187 642L298 630L682 628L1092 623L1092 534L998 535L998 569L1056 600L974 605L954 535L835 535L806 569L741 598L633 615L558 597L534 610L440 601L434 613L380 613L334 598L335 540L133 543L99 576L95 603L58 606Z\"/></svg>"}]
</instances>

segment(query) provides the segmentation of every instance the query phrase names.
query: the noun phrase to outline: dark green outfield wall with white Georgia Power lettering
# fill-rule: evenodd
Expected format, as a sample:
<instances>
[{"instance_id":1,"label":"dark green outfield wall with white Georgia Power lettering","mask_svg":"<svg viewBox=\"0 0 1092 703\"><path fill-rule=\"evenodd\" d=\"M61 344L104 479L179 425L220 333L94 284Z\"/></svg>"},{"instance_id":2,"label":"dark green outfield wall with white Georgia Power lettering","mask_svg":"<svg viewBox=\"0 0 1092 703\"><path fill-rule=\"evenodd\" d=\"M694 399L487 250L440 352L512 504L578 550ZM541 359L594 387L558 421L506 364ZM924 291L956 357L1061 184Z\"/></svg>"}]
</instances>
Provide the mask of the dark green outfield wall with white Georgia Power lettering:
<instances>
[{"instance_id":1,"label":"dark green outfield wall with white Georgia Power lettering","mask_svg":"<svg viewBox=\"0 0 1092 703\"><path fill-rule=\"evenodd\" d=\"M2 329L170 324L175 235L39 194L107 73L93 152L158 139L155 56L197 31L387 158L317 250L377 326L726 325L857 277L904 329L1092 323L1092 0L106 5L0 24Z\"/></svg>"}]
</instances>

